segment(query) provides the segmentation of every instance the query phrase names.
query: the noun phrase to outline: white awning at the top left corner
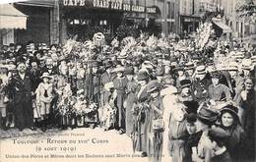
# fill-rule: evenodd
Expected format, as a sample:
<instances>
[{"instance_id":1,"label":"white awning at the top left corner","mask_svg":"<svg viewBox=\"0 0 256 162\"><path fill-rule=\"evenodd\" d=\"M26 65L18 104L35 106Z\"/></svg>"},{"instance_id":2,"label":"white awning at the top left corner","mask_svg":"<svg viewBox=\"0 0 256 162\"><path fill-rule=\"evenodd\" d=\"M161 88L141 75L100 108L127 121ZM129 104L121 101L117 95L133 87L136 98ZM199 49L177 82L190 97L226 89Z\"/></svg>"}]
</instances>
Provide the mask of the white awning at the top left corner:
<instances>
[{"instance_id":1,"label":"white awning at the top left corner","mask_svg":"<svg viewBox=\"0 0 256 162\"><path fill-rule=\"evenodd\" d=\"M0 28L27 28L27 17L12 5L0 5Z\"/></svg>"}]
</instances>

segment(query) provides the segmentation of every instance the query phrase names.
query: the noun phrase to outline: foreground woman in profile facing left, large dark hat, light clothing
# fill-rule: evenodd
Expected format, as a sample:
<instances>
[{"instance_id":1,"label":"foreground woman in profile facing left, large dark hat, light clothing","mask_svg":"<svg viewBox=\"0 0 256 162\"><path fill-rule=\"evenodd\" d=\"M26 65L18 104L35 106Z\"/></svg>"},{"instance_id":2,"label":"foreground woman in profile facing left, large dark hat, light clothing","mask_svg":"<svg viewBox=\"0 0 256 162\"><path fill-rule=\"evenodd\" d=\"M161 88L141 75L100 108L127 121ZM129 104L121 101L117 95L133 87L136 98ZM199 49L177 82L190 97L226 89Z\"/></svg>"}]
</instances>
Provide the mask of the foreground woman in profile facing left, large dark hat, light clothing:
<instances>
[{"instance_id":1,"label":"foreground woman in profile facing left, large dark hat, light clothing","mask_svg":"<svg viewBox=\"0 0 256 162\"><path fill-rule=\"evenodd\" d=\"M216 129L215 123L220 113L202 103L197 113L195 123L197 132L202 132L196 147L192 147L192 160L205 162L231 162L230 155L224 146L227 134L222 129Z\"/></svg>"}]
</instances>

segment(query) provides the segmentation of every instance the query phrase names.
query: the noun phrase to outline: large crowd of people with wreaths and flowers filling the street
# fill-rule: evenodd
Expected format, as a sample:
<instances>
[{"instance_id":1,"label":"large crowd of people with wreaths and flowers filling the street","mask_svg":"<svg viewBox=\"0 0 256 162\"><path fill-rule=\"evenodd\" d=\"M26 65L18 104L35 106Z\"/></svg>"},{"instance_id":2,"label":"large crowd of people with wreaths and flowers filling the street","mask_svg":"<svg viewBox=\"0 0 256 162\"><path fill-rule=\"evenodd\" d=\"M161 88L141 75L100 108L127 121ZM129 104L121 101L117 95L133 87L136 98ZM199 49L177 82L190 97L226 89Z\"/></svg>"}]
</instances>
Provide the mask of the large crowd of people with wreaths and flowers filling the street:
<instances>
[{"instance_id":1,"label":"large crowd of people with wreaths and flowers filling the street","mask_svg":"<svg viewBox=\"0 0 256 162\"><path fill-rule=\"evenodd\" d=\"M206 27L196 39L4 46L1 128L100 127L151 161L252 161L256 50Z\"/></svg>"}]
</instances>

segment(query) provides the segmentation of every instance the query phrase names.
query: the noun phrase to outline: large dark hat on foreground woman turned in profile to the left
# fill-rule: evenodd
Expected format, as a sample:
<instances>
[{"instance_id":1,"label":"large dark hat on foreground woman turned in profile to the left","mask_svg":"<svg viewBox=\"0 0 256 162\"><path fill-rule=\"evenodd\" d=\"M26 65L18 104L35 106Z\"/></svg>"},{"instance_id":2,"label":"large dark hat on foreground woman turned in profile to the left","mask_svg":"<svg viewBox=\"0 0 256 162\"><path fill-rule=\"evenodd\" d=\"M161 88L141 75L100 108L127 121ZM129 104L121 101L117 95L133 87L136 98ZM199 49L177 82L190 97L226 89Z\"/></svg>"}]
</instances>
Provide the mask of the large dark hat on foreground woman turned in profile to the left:
<instances>
[{"instance_id":1,"label":"large dark hat on foreground woman turned in profile to the left","mask_svg":"<svg viewBox=\"0 0 256 162\"><path fill-rule=\"evenodd\" d=\"M215 123L220 116L220 113L217 110L210 109L205 102L201 103L198 108L197 118L203 123Z\"/></svg>"}]
</instances>

